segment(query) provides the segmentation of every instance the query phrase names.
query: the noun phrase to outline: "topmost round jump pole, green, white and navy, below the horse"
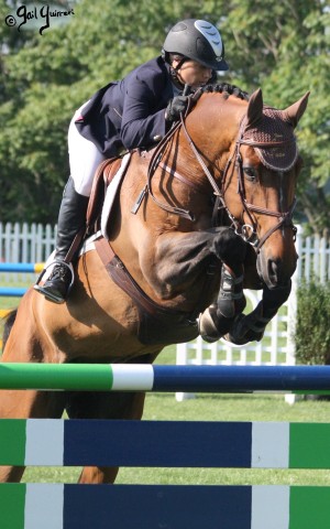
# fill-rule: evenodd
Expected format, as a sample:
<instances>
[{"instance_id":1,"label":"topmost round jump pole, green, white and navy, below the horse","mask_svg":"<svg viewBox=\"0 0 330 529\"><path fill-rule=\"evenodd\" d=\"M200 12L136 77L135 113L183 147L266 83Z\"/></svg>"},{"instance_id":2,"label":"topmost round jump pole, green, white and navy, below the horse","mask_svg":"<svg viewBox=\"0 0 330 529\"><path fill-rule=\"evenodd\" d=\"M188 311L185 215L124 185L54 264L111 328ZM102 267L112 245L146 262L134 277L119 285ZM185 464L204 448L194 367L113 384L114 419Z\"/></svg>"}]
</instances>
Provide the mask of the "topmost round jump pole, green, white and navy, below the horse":
<instances>
[{"instance_id":1,"label":"topmost round jump pole, green, white and navy, below the horse","mask_svg":"<svg viewBox=\"0 0 330 529\"><path fill-rule=\"evenodd\" d=\"M330 395L330 366L0 363L0 388Z\"/></svg>"}]
</instances>

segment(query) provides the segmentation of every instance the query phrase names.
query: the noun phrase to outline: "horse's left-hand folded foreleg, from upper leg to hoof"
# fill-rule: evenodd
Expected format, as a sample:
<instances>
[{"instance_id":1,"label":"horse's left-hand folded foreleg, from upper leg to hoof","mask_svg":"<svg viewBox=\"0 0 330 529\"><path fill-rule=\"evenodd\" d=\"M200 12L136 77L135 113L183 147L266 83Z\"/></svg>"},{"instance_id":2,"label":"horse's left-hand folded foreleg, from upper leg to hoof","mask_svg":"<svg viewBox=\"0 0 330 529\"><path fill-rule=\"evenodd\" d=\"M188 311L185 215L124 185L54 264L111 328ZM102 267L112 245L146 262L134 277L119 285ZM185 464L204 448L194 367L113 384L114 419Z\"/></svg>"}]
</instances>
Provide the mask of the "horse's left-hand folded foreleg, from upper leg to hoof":
<instances>
[{"instance_id":1,"label":"horse's left-hand folded foreleg, from upper leg to hoof","mask_svg":"<svg viewBox=\"0 0 330 529\"><path fill-rule=\"evenodd\" d=\"M245 307L243 263L246 246L233 229L224 227L164 234L156 244L157 267L154 267L153 274L146 273L145 277L153 279L152 284L158 294L170 298L179 289L193 285L198 277L205 278L210 262L218 262L218 279L222 276L219 295L199 319L200 335L215 342L229 332L237 314ZM216 283L215 288L219 289Z\"/></svg>"}]
</instances>

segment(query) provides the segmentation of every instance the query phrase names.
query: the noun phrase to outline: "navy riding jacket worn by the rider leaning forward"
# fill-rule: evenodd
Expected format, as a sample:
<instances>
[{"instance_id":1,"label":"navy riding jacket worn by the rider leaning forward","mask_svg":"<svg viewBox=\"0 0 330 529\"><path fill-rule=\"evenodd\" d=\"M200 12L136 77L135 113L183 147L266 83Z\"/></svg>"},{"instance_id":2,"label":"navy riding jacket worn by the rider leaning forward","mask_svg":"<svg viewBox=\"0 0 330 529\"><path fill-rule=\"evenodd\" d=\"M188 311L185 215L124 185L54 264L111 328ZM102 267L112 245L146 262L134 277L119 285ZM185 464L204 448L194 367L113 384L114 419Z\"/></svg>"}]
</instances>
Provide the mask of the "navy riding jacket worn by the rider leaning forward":
<instances>
[{"instance_id":1,"label":"navy riding jacket worn by the rider leaning forward","mask_svg":"<svg viewBox=\"0 0 330 529\"><path fill-rule=\"evenodd\" d=\"M106 158L122 149L148 147L168 128L165 108L173 97L169 66L160 56L98 90L76 127Z\"/></svg>"}]
</instances>

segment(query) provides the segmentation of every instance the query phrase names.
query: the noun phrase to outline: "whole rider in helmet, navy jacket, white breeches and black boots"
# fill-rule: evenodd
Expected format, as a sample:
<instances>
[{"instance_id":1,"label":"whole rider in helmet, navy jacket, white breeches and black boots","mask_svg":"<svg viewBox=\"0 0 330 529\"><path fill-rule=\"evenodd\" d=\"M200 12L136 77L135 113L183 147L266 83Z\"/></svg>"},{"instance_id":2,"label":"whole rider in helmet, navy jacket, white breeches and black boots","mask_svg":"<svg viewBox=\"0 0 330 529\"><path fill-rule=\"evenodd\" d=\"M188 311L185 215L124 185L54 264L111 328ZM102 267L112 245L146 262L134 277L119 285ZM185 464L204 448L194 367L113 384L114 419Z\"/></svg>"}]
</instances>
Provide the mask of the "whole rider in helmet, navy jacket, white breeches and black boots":
<instances>
[{"instance_id":1,"label":"whole rider in helmet, navy jacket, white breeches and black boots","mask_svg":"<svg viewBox=\"0 0 330 529\"><path fill-rule=\"evenodd\" d=\"M204 20L183 20L168 32L161 56L101 88L76 111L68 131L70 177L59 208L55 264L45 283L34 285L37 292L55 303L67 298L73 280L69 260L74 251L69 249L85 226L100 162L155 144L186 109L184 86L196 89L226 69L219 31Z\"/></svg>"}]
</instances>

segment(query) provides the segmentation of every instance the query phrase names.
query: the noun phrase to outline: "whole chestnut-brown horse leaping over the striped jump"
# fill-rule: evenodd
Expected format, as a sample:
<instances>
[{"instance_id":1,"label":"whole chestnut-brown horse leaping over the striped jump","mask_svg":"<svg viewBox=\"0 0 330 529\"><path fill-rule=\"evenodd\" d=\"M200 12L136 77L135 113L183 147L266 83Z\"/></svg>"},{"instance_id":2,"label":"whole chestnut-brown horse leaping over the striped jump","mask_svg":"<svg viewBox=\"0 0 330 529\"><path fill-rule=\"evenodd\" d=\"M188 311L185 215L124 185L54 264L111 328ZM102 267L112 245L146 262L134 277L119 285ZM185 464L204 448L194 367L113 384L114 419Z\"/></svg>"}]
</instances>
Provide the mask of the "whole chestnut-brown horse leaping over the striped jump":
<instances>
[{"instance_id":1,"label":"whole chestnut-brown horse leaping over the striped jump","mask_svg":"<svg viewBox=\"0 0 330 529\"><path fill-rule=\"evenodd\" d=\"M249 97L210 85L190 95L160 143L130 153L106 228L76 259L67 302L51 303L33 288L22 298L1 361L150 364L199 334L261 339L296 268L294 129L307 99L276 110L261 89ZM263 289L246 315L244 288ZM144 398L1 390L0 417L56 419L66 410L70 419L140 420ZM19 482L23 472L3 466L0 481ZM117 473L85 467L79 483L113 483Z\"/></svg>"}]
</instances>

